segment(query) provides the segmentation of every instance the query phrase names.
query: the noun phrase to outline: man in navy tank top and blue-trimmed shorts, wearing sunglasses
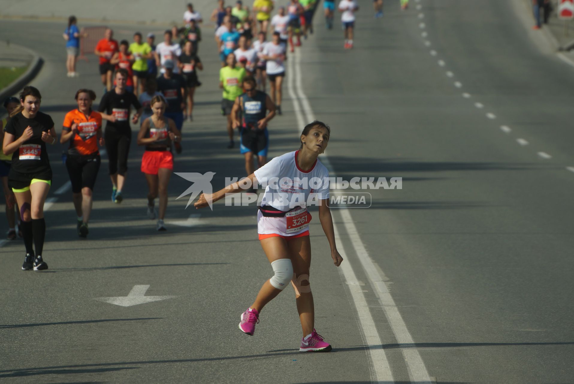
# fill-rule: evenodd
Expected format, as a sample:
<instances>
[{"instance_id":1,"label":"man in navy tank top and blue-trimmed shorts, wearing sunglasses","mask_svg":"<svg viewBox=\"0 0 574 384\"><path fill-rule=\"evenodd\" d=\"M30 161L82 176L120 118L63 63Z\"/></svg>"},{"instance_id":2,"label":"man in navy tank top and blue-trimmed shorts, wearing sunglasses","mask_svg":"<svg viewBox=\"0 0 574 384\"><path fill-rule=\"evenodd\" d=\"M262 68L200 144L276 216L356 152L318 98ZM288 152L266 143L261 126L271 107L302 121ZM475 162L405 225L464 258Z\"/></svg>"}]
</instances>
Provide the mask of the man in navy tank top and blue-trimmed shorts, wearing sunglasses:
<instances>
[{"instance_id":1,"label":"man in navy tank top and blue-trimmed shorts, wearing sunglasses","mask_svg":"<svg viewBox=\"0 0 574 384\"><path fill-rule=\"evenodd\" d=\"M241 153L245 155L247 175L251 175L255 171L254 155L257 155L257 168L267 163L267 149L269 149L267 123L275 116L275 105L269 95L257 90L257 81L253 76L243 79L243 90L245 93L235 99L231 118L233 128L241 129ZM243 116L241 122L238 116L240 111Z\"/></svg>"}]
</instances>

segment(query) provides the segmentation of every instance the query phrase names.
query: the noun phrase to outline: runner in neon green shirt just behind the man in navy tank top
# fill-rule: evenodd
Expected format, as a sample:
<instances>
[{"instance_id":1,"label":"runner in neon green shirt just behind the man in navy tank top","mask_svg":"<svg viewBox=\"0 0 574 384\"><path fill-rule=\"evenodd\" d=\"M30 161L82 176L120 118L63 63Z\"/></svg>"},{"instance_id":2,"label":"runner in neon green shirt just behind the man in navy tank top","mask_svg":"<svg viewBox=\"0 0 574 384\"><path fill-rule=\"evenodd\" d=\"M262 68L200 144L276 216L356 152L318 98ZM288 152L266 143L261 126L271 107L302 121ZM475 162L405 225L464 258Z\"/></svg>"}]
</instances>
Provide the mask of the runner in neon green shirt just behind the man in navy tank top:
<instances>
[{"instance_id":1,"label":"runner in neon green shirt just behind the man in navy tank top","mask_svg":"<svg viewBox=\"0 0 574 384\"><path fill-rule=\"evenodd\" d=\"M245 68L238 68L235 53L227 55L227 66L219 70L219 87L223 89L223 100L221 102L221 112L227 116L227 135L229 135L229 145L227 148L233 148L233 125L231 110L235 99L243 93L243 78L245 77Z\"/></svg>"}]
</instances>

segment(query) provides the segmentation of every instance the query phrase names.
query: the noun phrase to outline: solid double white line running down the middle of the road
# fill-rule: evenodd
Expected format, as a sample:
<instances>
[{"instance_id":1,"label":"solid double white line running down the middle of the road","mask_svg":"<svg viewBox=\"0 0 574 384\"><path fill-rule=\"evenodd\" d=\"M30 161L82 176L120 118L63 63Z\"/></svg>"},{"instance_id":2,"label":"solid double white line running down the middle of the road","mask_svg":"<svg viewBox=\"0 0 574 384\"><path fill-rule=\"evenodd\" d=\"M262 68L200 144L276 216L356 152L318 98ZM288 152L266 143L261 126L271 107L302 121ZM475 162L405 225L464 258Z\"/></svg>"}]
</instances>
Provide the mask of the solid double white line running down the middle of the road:
<instances>
[{"instance_id":1,"label":"solid double white line running down the middle of the road","mask_svg":"<svg viewBox=\"0 0 574 384\"><path fill-rule=\"evenodd\" d=\"M302 129L306 123L315 120L315 113L313 113L311 104L302 89L300 49L297 49L294 55L291 55L290 60L288 60L288 70L288 92L292 99L293 108L297 118L297 133L300 133L300 129ZM333 171L333 167L331 166L326 153L321 156L321 162L328 168L329 176L336 177L335 171ZM352 247L355 249L357 259L369 278L371 288L379 299L379 304L381 304L383 312L385 312L385 316L393 330L395 339L399 344L408 344L406 345L406 348L401 348L401 352L405 358L405 364L408 368L410 381L416 382L417 384L430 384L431 381L429 374L426 371L425 364L422 361L420 354L418 354L417 348L412 347L414 344L413 337L406 328L406 324L402 320L401 313L387 289L385 281L383 280L384 274L382 270L375 265L367 253L367 250L364 248L359 232L352 220L350 210L342 208L339 209L339 212L343 218L343 225L350 237ZM368 344L367 351L369 351L371 365L373 366L373 370L371 371L373 381L377 383L393 383L393 373L391 372L389 361L387 360L385 351L383 350L381 336L377 331L375 321L371 315L369 306L367 305L366 298L360 290L359 281L356 278L353 269L356 260L351 262L351 259L347 257L344 251L343 242L340 239L339 228L335 222L333 222L333 227L335 229L335 238L339 252L345 259L343 264L340 266L340 270L349 285L351 296L357 310L359 324L364 336L364 341Z\"/></svg>"}]
</instances>

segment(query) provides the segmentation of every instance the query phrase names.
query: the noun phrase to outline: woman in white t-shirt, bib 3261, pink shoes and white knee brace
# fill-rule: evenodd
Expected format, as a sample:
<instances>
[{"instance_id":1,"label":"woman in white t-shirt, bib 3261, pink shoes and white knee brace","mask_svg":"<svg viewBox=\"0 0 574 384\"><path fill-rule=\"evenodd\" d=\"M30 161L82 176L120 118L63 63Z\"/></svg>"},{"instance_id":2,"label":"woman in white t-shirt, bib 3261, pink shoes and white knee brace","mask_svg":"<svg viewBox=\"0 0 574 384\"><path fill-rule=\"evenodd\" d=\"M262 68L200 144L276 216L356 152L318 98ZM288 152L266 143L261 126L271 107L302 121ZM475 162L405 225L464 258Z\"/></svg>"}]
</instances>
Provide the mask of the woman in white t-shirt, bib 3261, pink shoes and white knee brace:
<instances>
[{"instance_id":1,"label":"woman in white t-shirt, bib 3261, pink shoes and white knee brace","mask_svg":"<svg viewBox=\"0 0 574 384\"><path fill-rule=\"evenodd\" d=\"M315 309L309 283L311 242L308 228L311 215L307 212L307 198L314 195L319 202L319 221L329 242L331 258L335 266L340 266L343 258L337 251L333 220L327 205L329 172L317 159L327 148L330 133L323 122L313 121L303 129L298 151L274 158L239 183L213 194L201 194L195 203L197 209L204 208L226 194L249 189L255 181L262 185L268 183L257 214L257 226L261 247L274 275L263 283L255 302L241 315L239 329L253 335L263 307L291 283L303 331L300 352L331 351L331 344L315 331ZM284 197L284 201L276 199L276 194Z\"/></svg>"}]
</instances>

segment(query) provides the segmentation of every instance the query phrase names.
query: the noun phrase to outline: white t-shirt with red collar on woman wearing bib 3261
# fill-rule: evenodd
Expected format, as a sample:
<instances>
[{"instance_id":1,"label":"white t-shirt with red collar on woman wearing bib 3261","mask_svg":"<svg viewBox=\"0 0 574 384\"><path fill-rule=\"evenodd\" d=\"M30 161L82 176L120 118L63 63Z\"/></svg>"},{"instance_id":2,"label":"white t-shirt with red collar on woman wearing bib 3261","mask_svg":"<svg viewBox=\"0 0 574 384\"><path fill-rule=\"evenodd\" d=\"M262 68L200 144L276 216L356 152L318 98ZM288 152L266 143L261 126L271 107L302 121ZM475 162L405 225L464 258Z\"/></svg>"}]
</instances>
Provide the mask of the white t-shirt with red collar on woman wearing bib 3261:
<instances>
[{"instance_id":1,"label":"white t-shirt with red collar on woman wearing bib 3261","mask_svg":"<svg viewBox=\"0 0 574 384\"><path fill-rule=\"evenodd\" d=\"M310 199L329 198L329 171L316 160L309 170L301 170L297 164L297 153L293 151L273 158L255 171L255 178L265 186L261 205L288 212L285 217L265 217L257 213L257 229L261 235L277 233L294 236L309 229L311 215L306 213Z\"/></svg>"}]
</instances>

